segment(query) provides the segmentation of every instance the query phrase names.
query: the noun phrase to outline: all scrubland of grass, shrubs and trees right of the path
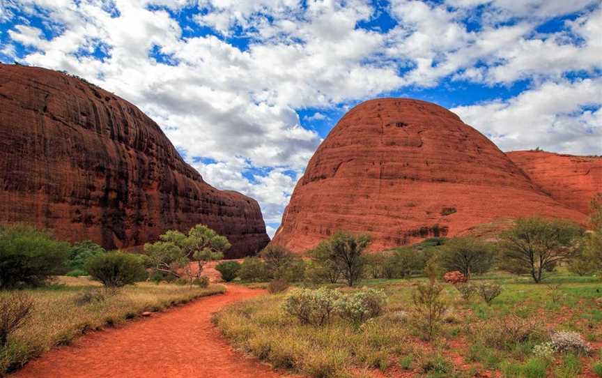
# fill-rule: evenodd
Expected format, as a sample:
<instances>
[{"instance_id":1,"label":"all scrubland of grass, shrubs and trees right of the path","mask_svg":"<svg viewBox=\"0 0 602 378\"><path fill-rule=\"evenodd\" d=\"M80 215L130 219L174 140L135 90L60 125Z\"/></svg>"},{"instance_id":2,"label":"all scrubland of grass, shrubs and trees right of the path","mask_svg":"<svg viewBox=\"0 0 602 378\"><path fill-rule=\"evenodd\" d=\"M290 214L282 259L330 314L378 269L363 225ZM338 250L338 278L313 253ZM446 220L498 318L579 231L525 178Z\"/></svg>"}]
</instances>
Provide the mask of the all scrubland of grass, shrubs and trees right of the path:
<instances>
[{"instance_id":1,"label":"all scrubland of grass, shrubs and trees right of the path","mask_svg":"<svg viewBox=\"0 0 602 378\"><path fill-rule=\"evenodd\" d=\"M367 255L369 236L339 232L302 262L266 251L238 279L271 286L286 283L287 264L304 269L214 321L237 347L310 377L602 377L595 205L588 232L528 218L491 241L427 239ZM451 270L463 279L442 280Z\"/></svg>"}]
</instances>

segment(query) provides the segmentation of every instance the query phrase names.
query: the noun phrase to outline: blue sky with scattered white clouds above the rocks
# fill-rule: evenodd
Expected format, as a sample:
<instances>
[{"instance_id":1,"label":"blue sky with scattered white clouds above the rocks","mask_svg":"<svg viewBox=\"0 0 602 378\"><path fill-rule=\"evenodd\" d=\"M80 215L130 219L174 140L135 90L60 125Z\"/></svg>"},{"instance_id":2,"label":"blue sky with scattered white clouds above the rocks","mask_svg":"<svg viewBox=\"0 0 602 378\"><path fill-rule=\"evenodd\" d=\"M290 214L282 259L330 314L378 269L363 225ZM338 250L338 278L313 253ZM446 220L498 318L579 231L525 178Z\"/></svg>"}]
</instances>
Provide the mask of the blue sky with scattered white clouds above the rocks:
<instances>
[{"instance_id":1,"label":"blue sky with scattered white clouds above the rocks","mask_svg":"<svg viewBox=\"0 0 602 378\"><path fill-rule=\"evenodd\" d=\"M602 154L601 0L0 0L0 61L134 103L270 234L316 146L376 96L451 108L504 151Z\"/></svg>"}]
</instances>

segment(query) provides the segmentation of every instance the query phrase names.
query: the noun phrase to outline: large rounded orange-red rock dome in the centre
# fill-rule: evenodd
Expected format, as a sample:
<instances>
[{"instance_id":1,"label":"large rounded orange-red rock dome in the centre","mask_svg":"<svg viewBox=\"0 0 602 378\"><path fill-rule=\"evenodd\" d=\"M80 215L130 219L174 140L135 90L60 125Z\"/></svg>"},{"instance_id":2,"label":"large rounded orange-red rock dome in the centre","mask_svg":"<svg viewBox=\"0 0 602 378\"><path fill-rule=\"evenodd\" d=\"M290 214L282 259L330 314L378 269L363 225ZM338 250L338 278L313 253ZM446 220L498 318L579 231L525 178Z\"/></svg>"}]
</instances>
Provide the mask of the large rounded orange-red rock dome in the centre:
<instances>
[{"instance_id":1,"label":"large rounded orange-red rock dome in the centre","mask_svg":"<svg viewBox=\"0 0 602 378\"><path fill-rule=\"evenodd\" d=\"M449 110L379 98L351 109L309 161L272 243L296 252L337 229L372 250L521 216L582 222Z\"/></svg>"}]
</instances>

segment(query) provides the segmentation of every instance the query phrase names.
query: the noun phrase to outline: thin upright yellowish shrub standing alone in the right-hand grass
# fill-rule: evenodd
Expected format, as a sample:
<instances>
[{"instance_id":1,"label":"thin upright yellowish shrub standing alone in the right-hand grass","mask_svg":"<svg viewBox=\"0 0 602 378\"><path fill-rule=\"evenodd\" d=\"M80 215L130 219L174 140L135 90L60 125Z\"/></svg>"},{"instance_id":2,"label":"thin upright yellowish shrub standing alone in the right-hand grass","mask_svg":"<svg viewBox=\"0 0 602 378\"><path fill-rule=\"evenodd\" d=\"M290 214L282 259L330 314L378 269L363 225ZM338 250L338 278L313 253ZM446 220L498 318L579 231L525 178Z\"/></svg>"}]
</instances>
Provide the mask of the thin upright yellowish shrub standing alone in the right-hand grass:
<instances>
[{"instance_id":1,"label":"thin upright yellowish shrub standing alone in the right-hand grass","mask_svg":"<svg viewBox=\"0 0 602 378\"><path fill-rule=\"evenodd\" d=\"M443 301L441 293L443 285L438 284L434 278L428 283L419 283L412 292L414 303L413 322L424 332L427 339L433 338L435 330L440 325L443 315L447 310L447 303Z\"/></svg>"}]
</instances>

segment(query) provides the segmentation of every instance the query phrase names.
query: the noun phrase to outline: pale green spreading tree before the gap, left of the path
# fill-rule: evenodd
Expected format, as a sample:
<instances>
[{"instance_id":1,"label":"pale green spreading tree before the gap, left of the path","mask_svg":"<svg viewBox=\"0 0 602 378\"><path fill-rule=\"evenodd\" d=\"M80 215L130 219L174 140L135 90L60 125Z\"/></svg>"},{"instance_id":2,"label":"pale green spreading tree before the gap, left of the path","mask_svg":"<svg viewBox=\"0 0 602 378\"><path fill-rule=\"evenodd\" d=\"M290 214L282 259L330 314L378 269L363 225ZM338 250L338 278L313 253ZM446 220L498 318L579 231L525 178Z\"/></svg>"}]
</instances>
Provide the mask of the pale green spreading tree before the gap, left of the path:
<instances>
[{"instance_id":1,"label":"pale green spreading tree before the gap, left of the path","mask_svg":"<svg viewBox=\"0 0 602 378\"><path fill-rule=\"evenodd\" d=\"M230 247L226 236L206 225L196 225L188 234L169 230L160 236L160 241L146 243L144 251L151 257L155 271L186 278L192 288L194 280L201 277L203 266L208 261L222 259ZM192 262L196 262L196 269Z\"/></svg>"}]
</instances>

